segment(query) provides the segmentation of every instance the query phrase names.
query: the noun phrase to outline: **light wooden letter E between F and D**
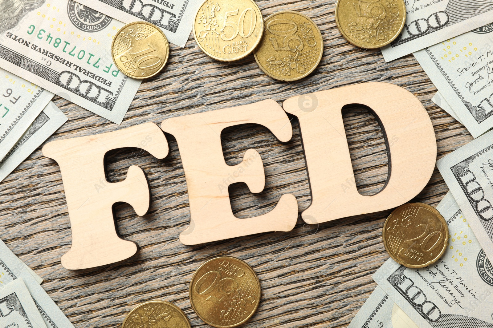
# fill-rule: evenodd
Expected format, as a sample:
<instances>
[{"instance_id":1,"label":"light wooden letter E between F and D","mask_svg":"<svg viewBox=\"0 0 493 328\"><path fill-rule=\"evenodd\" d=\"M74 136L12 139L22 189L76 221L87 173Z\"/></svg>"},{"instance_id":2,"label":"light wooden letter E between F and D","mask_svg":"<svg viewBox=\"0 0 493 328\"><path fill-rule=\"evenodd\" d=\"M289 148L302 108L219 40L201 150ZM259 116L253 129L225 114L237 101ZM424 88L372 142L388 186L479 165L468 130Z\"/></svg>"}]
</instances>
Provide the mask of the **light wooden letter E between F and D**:
<instances>
[{"instance_id":1,"label":"light wooden letter E between F and D","mask_svg":"<svg viewBox=\"0 0 493 328\"><path fill-rule=\"evenodd\" d=\"M243 181L252 193L261 192L265 186L264 166L255 149L246 150L240 164L230 166L224 160L221 131L246 123L267 127L281 142L289 141L293 133L286 113L272 99L166 119L161 124L178 142L188 188L191 222L180 234L182 243L290 231L296 224L298 204L291 194L282 195L266 214L244 219L233 215L228 193L231 183Z\"/></svg>"}]
</instances>

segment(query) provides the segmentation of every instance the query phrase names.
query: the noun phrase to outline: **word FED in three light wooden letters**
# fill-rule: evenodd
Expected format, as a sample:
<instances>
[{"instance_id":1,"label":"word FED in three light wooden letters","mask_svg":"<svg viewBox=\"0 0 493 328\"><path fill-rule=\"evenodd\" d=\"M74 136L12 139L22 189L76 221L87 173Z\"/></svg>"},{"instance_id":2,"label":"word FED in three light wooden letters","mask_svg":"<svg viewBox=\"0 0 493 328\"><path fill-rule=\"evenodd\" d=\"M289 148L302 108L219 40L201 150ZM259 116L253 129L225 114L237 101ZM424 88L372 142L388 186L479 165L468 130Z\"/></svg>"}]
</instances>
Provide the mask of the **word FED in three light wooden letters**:
<instances>
[{"instance_id":1,"label":"word FED in three light wooden letters","mask_svg":"<svg viewBox=\"0 0 493 328\"><path fill-rule=\"evenodd\" d=\"M348 104L370 107L386 140L398 140L387 142L387 184L372 196L362 196L356 188L346 193L340 188L354 177L342 119L342 108ZM252 193L258 193L265 186L264 167L255 149L248 149L241 163L227 165L220 140L224 128L257 123L281 142L287 142L292 137L292 127L284 111L300 122L312 192L312 204L302 213L307 223L394 208L416 196L431 177L436 159L431 120L412 93L387 83L362 83L295 96L284 101L283 109L268 99L166 119L161 129L175 136L178 143L190 203L191 224L179 236L182 243L193 245L293 229L298 205L291 194L282 195L276 207L266 214L246 219L234 216L227 178L239 172L235 182L243 181ZM60 165L67 198L72 246L62 257L65 268L98 267L137 252L136 243L118 236L112 206L125 202L138 215L144 215L150 198L147 180L138 166L131 166L125 180L106 181L104 156L111 149L140 145L153 156L165 158L168 142L161 129L154 123L144 123L94 136L57 140L43 147L43 154ZM141 143L146 137L152 142ZM102 182L105 187L96 191L94 185Z\"/></svg>"}]
</instances>

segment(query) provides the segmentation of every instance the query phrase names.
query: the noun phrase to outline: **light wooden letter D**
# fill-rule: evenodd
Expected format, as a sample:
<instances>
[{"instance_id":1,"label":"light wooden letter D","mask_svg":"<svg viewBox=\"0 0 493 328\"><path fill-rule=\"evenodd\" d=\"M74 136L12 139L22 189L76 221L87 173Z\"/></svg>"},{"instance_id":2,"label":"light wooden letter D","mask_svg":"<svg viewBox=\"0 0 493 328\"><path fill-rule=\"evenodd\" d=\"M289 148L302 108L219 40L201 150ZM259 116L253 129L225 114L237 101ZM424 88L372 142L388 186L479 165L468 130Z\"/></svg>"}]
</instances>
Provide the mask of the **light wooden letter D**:
<instances>
[{"instance_id":1,"label":"light wooden letter D","mask_svg":"<svg viewBox=\"0 0 493 328\"><path fill-rule=\"evenodd\" d=\"M348 104L370 107L386 138L390 174L384 188L372 196L342 188L347 179L354 181L341 111ZM401 87L361 83L294 96L282 106L300 122L312 191L312 204L302 213L307 223L397 207L415 197L433 173L433 125L420 100Z\"/></svg>"}]
</instances>

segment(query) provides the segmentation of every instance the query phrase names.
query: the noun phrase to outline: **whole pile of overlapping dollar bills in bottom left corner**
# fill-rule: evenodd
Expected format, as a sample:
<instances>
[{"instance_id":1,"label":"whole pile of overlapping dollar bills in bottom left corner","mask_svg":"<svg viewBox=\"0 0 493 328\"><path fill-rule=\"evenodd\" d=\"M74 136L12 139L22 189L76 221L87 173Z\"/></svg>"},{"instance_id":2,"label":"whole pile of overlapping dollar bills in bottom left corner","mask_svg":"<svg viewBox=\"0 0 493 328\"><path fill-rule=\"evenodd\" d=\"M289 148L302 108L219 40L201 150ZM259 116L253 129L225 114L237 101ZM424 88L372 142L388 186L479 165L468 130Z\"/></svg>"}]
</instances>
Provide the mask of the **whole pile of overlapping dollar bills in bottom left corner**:
<instances>
[{"instance_id":1,"label":"whole pile of overlapping dollar bills in bottom left corner","mask_svg":"<svg viewBox=\"0 0 493 328\"><path fill-rule=\"evenodd\" d=\"M0 327L74 328L42 281L0 240Z\"/></svg>"}]
</instances>

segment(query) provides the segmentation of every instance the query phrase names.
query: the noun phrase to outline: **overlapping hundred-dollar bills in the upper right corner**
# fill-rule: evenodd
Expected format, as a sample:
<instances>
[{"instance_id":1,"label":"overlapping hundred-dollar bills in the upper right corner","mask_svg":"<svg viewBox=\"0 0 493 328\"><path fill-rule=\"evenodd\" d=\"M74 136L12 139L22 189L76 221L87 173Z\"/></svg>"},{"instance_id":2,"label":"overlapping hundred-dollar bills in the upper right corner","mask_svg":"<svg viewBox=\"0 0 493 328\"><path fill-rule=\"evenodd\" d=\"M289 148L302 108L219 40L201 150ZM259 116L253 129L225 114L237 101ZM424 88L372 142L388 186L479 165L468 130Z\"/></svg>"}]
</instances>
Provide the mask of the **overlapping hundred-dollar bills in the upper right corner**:
<instances>
[{"instance_id":1,"label":"overlapping hundred-dollar bills in the upper right corner","mask_svg":"<svg viewBox=\"0 0 493 328\"><path fill-rule=\"evenodd\" d=\"M438 92L438 106L474 138L493 127L493 1L409 0L386 61L413 53Z\"/></svg>"}]
</instances>

